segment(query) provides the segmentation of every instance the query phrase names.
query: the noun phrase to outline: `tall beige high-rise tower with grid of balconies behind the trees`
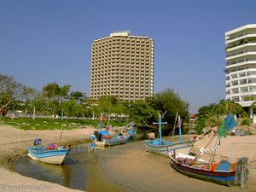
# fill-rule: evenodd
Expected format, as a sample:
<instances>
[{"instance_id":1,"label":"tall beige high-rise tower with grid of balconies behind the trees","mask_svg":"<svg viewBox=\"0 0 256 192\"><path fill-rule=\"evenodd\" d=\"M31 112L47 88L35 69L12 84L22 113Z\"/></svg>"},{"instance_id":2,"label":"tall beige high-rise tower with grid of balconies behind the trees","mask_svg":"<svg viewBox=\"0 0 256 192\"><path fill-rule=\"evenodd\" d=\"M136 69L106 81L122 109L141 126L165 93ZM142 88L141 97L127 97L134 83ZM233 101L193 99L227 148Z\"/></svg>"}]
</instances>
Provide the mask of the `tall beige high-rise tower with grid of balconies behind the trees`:
<instances>
[{"instance_id":1,"label":"tall beige high-rise tower with grid of balconies behind the trees","mask_svg":"<svg viewBox=\"0 0 256 192\"><path fill-rule=\"evenodd\" d=\"M117 96L120 101L145 100L154 93L154 40L113 32L93 42L90 97Z\"/></svg>"}]
</instances>

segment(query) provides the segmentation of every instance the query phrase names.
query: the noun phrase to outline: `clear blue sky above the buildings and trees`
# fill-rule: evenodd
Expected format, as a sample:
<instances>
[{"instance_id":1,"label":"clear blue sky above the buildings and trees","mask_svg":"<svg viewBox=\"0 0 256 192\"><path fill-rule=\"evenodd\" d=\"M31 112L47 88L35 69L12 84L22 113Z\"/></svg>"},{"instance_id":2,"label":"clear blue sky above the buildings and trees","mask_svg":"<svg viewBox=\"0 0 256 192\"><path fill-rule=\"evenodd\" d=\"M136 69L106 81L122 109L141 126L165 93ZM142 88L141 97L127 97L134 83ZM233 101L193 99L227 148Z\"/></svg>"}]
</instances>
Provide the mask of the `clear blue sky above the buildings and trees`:
<instances>
[{"instance_id":1,"label":"clear blue sky above the buildings and trees","mask_svg":"<svg viewBox=\"0 0 256 192\"><path fill-rule=\"evenodd\" d=\"M224 33L256 23L254 0L0 0L0 73L37 90L56 82L90 96L90 47L111 32L154 38L154 92L189 112L225 94Z\"/></svg>"}]
</instances>

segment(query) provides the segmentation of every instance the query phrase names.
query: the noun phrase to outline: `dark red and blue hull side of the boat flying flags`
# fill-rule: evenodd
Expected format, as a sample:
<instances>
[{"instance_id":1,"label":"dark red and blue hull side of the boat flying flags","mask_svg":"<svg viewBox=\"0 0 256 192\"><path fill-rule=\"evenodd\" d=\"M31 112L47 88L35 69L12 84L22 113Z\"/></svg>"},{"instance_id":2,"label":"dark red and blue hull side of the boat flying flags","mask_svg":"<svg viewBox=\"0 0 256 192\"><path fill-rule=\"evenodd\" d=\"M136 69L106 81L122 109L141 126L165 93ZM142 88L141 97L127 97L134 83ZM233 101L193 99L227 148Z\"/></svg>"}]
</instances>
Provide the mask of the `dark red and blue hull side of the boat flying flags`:
<instances>
[{"instance_id":1,"label":"dark red and blue hull side of the boat flying flags","mask_svg":"<svg viewBox=\"0 0 256 192\"><path fill-rule=\"evenodd\" d=\"M207 168L199 168L199 167L193 167L193 166L186 166L182 163L177 162L172 155L170 155L171 158L171 166L173 169L175 169L177 172L182 173L183 175L189 176L189 177L195 177L204 181L212 182L212 183L218 183L226 186L234 185L235 183L235 175L236 170L210 170ZM193 157L195 158L195 157ZM192 159L193 159L192 158ZM221 165L221 164L219 164ZM226 163L226 166L232 166L232 164Z\"/></svg>"}]
</instances>

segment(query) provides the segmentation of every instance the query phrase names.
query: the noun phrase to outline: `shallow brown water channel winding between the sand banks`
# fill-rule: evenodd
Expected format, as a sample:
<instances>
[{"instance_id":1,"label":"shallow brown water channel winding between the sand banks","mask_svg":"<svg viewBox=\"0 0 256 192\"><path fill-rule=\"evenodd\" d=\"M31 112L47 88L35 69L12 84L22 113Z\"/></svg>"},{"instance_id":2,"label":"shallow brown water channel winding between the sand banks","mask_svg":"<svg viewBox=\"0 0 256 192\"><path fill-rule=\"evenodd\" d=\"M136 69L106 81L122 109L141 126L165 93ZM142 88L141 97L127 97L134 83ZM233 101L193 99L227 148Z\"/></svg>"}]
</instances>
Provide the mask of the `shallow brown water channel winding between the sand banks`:
<instances>
[{"instance_id":1,"label":"shallow brown water channel winding between the sand banks","mask_svg":"<svg viewBox=\"0 0 256 192\"><path fill-rule=\"evenodd\" d=\"M97 153L100 153L100 150L109 149L97 148L92 153L90 152L90 143L84 143L71 149L70 155L67 156L63 165L49 165L23 156L15 159L12 166L15 172L26 177L59 183L68 188L86 190L89 177L95 175L94 172L98 170Z\"/></svg>"}]
</instances>

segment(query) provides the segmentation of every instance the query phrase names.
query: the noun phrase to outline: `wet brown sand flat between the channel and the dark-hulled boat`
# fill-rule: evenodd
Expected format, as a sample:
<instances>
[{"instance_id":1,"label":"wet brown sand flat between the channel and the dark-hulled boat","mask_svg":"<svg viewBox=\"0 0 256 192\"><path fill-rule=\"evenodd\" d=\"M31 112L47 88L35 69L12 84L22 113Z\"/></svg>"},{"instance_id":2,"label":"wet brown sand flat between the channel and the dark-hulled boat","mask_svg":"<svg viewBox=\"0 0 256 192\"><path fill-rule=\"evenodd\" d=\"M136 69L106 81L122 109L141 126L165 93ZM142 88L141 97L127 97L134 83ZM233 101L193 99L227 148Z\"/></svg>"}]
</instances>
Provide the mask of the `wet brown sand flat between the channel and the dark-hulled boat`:
<instances>
[{"instance_id":1,"label":"wet brown sand flat between the channel and the dark-hulled boat","mask_svg":"<svg viewBox=\"0 0 256 192\"><path fill-rule=\"evenodd\" d=\"M146 152L143 142L122 145L102 152L101 156L102 171L109 181L129 191L241 191L239 186L226 187L184 176L172 169L168 158ZM251 177L242 191L256 191L255 169L252 171L254 180Z\"/></svg>"}]
</instances>

